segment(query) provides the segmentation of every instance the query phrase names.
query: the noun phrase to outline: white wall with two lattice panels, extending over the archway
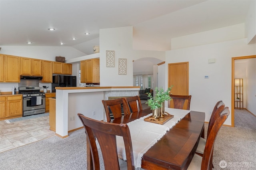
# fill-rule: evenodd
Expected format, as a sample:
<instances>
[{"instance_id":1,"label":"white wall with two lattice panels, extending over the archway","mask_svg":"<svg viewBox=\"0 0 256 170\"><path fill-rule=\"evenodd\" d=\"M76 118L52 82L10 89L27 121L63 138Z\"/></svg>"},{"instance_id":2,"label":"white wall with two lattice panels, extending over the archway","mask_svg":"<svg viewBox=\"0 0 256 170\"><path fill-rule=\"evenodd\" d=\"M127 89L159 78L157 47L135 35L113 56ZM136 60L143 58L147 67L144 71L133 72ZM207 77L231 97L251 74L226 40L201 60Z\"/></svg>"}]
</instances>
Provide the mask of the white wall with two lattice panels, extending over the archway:
<instances>
[{"instance_id":1,"label":"white wall with two lattice panels, extending over the archway","mask_svg":"<svg viewBox=\"0 0 256 170\"><path fill-rule=\"evenodd\" d=\"M133 60L154 57L164 61L164 51L132 49L132 26L100 30L100 86L132 86ZM115 67L106 67L106 50L115 51ZM127 74L118 75L118 58L127 59Z\"/></svg>"}]
</instances>

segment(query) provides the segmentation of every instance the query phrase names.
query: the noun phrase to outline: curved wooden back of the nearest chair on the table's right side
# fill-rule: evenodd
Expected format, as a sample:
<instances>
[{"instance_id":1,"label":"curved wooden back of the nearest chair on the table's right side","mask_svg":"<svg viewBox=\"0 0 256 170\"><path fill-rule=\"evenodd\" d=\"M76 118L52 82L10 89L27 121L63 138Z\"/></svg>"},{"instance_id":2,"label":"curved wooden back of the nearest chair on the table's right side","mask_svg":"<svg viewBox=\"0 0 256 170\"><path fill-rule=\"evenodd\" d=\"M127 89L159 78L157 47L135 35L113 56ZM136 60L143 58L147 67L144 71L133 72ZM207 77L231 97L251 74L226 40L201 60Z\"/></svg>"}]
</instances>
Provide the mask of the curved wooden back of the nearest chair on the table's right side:
<instances>
[{"instance_id":1,"label":"curved wooden back of the nearest chair on the table's right side","mask_svg":"<svg viewBox=\"0 0 256 170\"><path fill-rule=\"evenodd\" d=\"M222 111L220 112L220 116L214 122L214 125L212 126L212 129L210 130L209 136L207 137L206 140L206 146L204 149L204 154L201 163L201 170L211 169L214 142L216 140L216 136L220 130L220 127L222 127L223 123L226 121L229 114L230 111L228 107L224 107L224 109L222 109Z\"/></svg>"}]
</instances>

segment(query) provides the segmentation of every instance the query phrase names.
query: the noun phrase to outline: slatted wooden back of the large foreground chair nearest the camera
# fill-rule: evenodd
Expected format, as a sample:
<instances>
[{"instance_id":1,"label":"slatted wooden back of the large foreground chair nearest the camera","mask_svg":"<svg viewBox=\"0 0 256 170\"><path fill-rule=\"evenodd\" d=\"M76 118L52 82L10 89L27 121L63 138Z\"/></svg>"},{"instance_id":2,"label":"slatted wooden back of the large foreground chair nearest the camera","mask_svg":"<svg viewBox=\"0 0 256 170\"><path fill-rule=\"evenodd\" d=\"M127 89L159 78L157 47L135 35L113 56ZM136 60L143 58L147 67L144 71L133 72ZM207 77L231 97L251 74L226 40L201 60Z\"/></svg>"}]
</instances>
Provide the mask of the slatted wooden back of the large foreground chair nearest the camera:
<instances>
[{"instance_id":1,"label":"slatted wooden back of the large foreground chair nearest the camera","mask_svg":"<svg viewBox=\"0 0 256 170\"><path fill-rule=\"evenodd\" d=\"M125 169L134 170L134 157L132 151L132 141L130 136L130 130L126 124L115 124L104 121L97 121L85 117L81 113L78 113L78 117L84 125L86 132L86 138L90 144L90 151L92 154L92 164L94 170L100 169L100 160L98 155L97 144L100 145L102 157L104 161L104 167L106 170L119 170L118 152L116 148L116 136L122 136L124 140L124 147L126 153L126 165Z\"/></svg>"}]
</instances>

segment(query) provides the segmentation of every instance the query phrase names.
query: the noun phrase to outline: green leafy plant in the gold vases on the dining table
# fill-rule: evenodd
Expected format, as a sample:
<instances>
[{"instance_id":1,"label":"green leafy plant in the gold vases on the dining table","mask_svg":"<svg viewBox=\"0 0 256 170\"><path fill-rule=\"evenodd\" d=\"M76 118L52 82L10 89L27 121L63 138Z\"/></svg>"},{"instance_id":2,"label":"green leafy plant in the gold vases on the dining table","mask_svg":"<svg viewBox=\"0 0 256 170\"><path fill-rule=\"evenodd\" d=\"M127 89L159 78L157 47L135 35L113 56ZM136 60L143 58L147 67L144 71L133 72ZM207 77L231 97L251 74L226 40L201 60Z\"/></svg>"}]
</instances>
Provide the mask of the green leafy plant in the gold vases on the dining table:
<instances>
[{"instance_id":1,"label":"green leafy plant in the gold vases on the dining table","mask_svg":"<svg viewBox=\"0 0 256 170\"><path fill-rule=\"evenodd\" d=\"M166 91L164 91L164 89L162 87L160 87L158 89L158 87L155 88L155 97L153 97L151 95L151 93L147 93L148 94L148 101L146 102L146 104L148 104L148 106L150 107L151 110L153 109L158 109L161 107L161 103L166 101L166 100L170 100L170 91L172 89L173 85L171 87L169 87Z\"/></svg>"}]
</instances>

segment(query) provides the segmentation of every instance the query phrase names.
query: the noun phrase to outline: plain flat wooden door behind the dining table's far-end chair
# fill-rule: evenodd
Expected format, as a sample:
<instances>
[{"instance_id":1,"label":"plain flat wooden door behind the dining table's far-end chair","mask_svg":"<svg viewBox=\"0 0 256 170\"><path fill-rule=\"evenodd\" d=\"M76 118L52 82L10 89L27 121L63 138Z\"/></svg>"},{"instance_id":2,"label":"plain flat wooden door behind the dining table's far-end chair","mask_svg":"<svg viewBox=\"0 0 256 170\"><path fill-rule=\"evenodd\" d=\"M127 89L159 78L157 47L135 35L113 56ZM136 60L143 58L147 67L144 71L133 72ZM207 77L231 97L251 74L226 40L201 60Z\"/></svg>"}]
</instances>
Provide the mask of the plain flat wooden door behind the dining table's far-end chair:
<instances>
[{"instance_id":1,"label":"plain flat wooden door behind the dining table's far-end chair","mask_svg":"<svg viewBox=\"0 0 256 170\"><path fill-rule=\"evenodd\" d=\"M168 87L173 95L188 95L188 62L168 64ZM185 106L187 103L184 104ZM173 108L173 102L170 101Z\"/></svg>"}]
</instances>

